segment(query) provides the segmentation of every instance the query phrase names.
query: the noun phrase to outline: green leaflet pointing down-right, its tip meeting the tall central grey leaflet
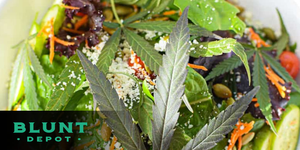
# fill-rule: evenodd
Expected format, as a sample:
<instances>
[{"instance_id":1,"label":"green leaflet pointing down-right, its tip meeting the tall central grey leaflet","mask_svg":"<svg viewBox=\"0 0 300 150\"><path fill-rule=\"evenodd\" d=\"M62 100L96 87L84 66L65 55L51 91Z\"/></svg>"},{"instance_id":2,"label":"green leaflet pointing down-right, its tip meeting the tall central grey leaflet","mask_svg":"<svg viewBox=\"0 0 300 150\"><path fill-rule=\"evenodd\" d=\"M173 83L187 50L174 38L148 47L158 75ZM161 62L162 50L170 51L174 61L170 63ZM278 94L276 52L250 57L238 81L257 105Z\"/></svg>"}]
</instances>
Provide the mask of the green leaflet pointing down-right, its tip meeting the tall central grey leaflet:
<instances>
[{"instance_id":1,"label":"green leaflet pointing down-right, its tip meeting the tall central grey leaflet","mask_svg":"<svg viewBox=\"0 0 300 150\"><path fill-rule=\"evenodd\" d=\"M158 74L158 68L162 64L162 55L159 54L144 38L133 31L123 28L123 32L133 51L145 61L146 65L149 66L151 70Z\"/></svg>"}]
</instances>

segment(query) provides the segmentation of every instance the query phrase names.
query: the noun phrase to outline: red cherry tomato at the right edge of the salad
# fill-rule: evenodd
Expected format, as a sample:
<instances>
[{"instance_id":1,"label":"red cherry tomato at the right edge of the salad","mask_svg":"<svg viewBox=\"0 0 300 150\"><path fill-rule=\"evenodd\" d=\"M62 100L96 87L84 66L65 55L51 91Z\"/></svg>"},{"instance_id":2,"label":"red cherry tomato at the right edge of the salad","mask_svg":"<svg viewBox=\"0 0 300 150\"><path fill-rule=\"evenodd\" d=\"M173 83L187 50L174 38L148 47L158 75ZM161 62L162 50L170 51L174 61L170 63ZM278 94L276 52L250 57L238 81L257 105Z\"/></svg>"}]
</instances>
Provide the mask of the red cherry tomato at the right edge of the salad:
<instances>
[{"instance_id":1,"label":"red cherry tomato at the right edge of the salad","mask_svg":"<svg viewBox=\"0 0 300 150\"><path fill-rule=\"evenodd\" d=\"M293 52L284 51L279 56L281 66L293 77L296 78L299 72L299 59Z\"/></svg>"}]
</instances>

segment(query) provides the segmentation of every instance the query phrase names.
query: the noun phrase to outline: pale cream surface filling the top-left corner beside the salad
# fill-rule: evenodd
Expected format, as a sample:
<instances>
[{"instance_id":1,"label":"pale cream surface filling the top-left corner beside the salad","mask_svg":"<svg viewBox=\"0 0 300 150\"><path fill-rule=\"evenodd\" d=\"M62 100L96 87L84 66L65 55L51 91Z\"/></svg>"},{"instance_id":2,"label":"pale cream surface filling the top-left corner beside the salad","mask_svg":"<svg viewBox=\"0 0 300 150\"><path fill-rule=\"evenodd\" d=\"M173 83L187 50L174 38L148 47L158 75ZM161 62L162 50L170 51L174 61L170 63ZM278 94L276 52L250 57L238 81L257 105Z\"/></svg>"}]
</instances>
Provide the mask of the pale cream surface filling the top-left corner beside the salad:
<instances>
[{"instance_id":1,"label":"pale cream surface filling the top-left corner beside the salad","mask_svg":"<svg viewBox=\"0 0 300 150\"><path fill-rule=\"evenodd\" d=\"M5 110L8 97L8 80L17 44L29 34L35 13L44 15L53 0L0 0L0 110Z\"/></svg>"}]
</instances>

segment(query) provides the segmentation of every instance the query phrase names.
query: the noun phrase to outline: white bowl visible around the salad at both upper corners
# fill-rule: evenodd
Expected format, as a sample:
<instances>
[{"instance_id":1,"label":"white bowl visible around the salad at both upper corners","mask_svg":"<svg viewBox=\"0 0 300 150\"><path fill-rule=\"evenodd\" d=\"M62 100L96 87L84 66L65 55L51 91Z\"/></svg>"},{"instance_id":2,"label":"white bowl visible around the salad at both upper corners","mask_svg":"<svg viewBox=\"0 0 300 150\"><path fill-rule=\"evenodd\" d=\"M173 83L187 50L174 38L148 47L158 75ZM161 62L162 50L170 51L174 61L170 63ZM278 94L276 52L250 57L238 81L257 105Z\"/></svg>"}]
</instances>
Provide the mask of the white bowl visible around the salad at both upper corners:
<instances>
[{"instance_id":1,"label":"white bowl visible around the salad at both upper corners","mask_svg":"<svg viewBox=\"0 0 300 150\"><path fill-rule=\"evenodd\" d=\"M44 15L54 0L0 0L0 110L7 107L8 80L12 62L16 57L16 49L11 46L28 36L28 32L35 17ZM239 0L240 4L253 14L254 20L259 20L263 26L280 31L280 23L276 13L278 8L291 42L300 46L300 0ZM296 49L300 58L300 48ZM297 77L300 83L300 74ZM300 142L299 142L300 143ZM300 146L298 148L300 150Z\"/></svg>"}]
</instances>

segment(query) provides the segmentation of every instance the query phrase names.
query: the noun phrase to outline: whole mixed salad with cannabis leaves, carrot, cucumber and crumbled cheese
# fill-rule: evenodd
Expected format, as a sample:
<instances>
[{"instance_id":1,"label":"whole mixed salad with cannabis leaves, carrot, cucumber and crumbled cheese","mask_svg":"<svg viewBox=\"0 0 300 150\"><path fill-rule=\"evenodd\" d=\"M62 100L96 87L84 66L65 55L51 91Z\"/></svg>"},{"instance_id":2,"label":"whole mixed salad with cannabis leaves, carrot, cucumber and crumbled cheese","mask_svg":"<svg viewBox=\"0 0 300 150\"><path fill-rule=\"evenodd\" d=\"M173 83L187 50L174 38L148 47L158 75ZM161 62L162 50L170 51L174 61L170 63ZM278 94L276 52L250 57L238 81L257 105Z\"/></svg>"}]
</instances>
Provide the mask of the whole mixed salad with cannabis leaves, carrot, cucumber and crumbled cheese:
<instances>
[{"instance_id":1,"label":"whole mixed salad with cannabis leaves, carrot, cucumber and crumbled cheese","mask_svg":"<svg viewBox=\"0 0 300 150\"><path fill-rule=\"evenodd\" d=\"M96 111L74 149L295 149L297 44L244 9L56 0L14 46L7 110Z\"/></svg>"}]
</instances>

